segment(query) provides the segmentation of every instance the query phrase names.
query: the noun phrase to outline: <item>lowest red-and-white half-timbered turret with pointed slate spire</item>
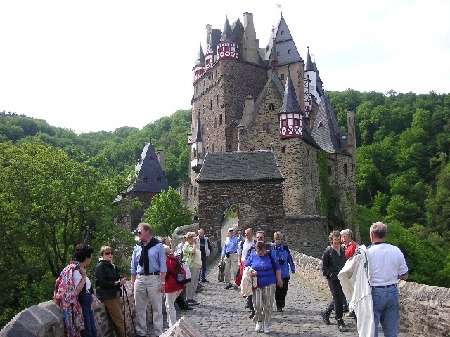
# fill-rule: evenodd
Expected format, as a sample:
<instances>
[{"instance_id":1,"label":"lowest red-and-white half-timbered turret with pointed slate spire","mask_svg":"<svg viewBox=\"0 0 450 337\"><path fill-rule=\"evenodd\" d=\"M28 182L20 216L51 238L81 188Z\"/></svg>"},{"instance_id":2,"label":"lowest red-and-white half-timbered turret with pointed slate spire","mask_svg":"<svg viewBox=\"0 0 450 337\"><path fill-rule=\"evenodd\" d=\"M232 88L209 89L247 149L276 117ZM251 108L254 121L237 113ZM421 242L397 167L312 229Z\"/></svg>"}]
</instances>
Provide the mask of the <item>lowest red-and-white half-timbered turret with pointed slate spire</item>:
<instances>
[{"instance_id":1,"label":"lowest red-and-white half-timbered turret with pointed slate spire","mask_svg":"<svg viewBox=\"0 0 450 337\"><path fill-rule=\"evenodd\" d=\"M281 138L299 138L303 136L301 109L297 101L289 68L286 86L284 88L283 105L281 106L279 115Z\"/></svg>"}]
</instances>

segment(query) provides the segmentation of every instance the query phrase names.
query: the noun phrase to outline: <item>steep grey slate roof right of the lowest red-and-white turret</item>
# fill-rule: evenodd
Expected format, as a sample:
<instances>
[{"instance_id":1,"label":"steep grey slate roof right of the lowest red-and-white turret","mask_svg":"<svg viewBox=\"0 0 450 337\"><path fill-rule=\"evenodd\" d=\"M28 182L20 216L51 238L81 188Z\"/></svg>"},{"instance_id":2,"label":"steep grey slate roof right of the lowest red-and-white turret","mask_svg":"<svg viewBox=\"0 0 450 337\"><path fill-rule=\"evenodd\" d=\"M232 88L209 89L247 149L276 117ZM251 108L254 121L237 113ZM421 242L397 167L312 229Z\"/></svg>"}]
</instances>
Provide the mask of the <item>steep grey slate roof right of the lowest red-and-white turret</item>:
<instances>
[{"instance_id":1,"label":"steep grey slate roof right of the lowest red-and-white turret","mask_svg":"<svg viewBox=\"0 0 450 337\"><path fill-rule=\"evenodd\" d=\"M346 144L342 143L342 134L331 106L330 99L325 94L319 104L319 111L311 126L311 135L319 146L328 153L346 154Z\"/></svg>"}]
</instances>

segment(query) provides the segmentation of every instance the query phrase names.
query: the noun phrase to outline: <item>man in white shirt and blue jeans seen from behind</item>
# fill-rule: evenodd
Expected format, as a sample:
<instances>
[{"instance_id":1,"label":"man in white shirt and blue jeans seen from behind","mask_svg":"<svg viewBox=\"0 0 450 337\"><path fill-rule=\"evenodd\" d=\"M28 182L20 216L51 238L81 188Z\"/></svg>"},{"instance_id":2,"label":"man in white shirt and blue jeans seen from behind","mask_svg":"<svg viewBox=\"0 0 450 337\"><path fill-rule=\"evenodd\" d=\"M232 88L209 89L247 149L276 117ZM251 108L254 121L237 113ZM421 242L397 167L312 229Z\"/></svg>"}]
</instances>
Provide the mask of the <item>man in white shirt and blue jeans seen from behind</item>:
<instances>
[{"instance_id":1,"label":"man in white shirt and blue jeans seen from behind","mask_svg":"<svg viewBox=\"0 0 450 337\"><path fill-rule=\"evenodd\" d=\"M397 280L408 278L405 257L396 246L385 242L387 225L375 222L370 227L369 281L372 287L375 337L378 336L378 322L385 337L396 337L399 322Z\"/></svg>"}]
</instances>

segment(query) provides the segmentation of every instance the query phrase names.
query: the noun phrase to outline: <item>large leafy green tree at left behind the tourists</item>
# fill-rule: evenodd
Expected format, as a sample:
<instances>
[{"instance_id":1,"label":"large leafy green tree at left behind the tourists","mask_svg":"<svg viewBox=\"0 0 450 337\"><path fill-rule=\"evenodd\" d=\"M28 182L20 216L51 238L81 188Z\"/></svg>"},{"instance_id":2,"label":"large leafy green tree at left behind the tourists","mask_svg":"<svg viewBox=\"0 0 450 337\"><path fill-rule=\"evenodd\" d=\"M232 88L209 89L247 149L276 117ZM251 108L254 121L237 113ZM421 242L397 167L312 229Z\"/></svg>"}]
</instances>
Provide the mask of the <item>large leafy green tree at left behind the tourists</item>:
<instances>
[{"instance_id":1,"label":"large leafy green tree at left behind the tourists","mask_svg":"<svg viewBox=\"0 0 450 337\"><path fill-rule=\"evenodd\" d=\"M4 142L0 181L0 273L8 275L3 286L9 289L0 297L1 324L51 298L75 244L89 241L97 250L108 243L131 251L128 231L113 225L112 201L123 188L121 179L110 179L62 150Z\"/></svg>"}]
</instances>

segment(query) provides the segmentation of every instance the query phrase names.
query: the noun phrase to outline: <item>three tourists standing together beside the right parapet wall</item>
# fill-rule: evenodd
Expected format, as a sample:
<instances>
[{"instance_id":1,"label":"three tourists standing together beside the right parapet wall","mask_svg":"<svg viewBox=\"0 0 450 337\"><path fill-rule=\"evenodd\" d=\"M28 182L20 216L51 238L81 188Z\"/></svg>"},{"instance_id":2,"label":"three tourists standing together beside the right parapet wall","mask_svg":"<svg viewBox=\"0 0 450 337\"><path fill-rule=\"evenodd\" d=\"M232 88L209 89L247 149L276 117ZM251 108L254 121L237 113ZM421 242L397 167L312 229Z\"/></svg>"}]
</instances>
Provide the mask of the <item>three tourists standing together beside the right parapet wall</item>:
<instances>
[{"instance_id":1,"label":"three tourists standing together beside the right parapet wall","mask_svg":"<svg viewBox=\"0 0 450 337\"><path fill-rule=\"evenodd\" d=\"M371 245L354 241L349 229L332 231L329 246L322 256L322 272L327 278L333 300L321 312L325 324L335 312L340 332L348 331L344 308L357 320L360 337L378 337L381 323L386 337L395 337L399 324L397 281L406 280L408 267L400 249L386 242L387 225L375 222L370 227Z\"/></svg>"}]
</instances>

